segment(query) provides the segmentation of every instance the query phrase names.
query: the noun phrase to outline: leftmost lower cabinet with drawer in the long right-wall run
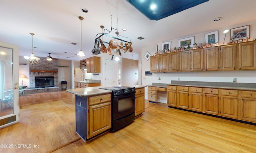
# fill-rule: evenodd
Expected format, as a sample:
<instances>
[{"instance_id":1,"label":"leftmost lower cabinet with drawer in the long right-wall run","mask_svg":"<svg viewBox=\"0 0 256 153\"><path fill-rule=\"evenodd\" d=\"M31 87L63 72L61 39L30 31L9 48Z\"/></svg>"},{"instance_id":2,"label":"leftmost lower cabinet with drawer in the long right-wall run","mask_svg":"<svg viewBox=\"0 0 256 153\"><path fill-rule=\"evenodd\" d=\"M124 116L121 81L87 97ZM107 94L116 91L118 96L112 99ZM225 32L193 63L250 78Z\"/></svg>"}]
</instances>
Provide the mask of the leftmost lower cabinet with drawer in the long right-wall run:
<instances>
[{"instance_id":1,"label":"leftmost lower cabinet with drawer in the long right-wall run","mask_svg":"<svg viewBox=\"0 0 256 153\"><path fill-rule=\"evenodd\" d=\"M167 86L168 106L177 106L177 86Z\"/></svg>"}]
</instances>

